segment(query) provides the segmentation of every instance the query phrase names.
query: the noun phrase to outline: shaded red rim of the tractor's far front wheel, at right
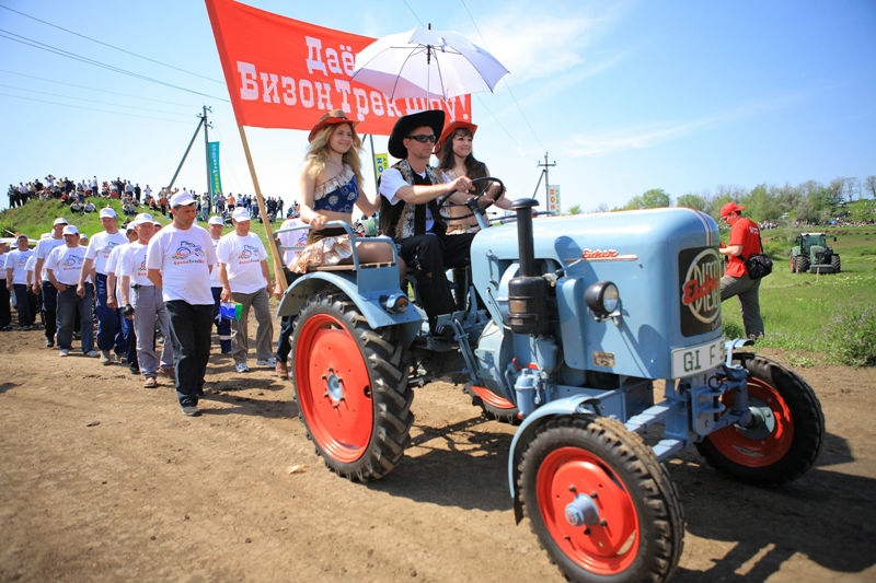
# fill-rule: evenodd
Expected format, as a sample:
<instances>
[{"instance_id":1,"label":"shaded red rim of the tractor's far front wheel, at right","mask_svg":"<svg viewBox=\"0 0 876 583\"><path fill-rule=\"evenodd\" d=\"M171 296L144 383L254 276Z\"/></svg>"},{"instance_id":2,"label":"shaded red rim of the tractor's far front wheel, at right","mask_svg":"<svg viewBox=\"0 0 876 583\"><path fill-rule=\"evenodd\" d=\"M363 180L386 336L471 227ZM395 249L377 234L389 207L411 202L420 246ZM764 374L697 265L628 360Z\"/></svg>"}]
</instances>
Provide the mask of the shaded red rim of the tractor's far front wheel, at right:
<instances>
[{"instance_id":1,"label":"shaded red rim of the tractor's far front wheel, at right","mask_svg":"<svg viewBox=\"0 0 876 583\"><path fill-rule=\"evenodd\" d=\"M775 387L759 378L748 380L748 397L751 407L769 410L769 432L752 433L730 425L712 433L708 440L724 457L735 464L746 467L771 466L787 454L794 442L791 409ZM729 406L731 398L725 393L724 404Z\"/></svg>"}]
</instances>

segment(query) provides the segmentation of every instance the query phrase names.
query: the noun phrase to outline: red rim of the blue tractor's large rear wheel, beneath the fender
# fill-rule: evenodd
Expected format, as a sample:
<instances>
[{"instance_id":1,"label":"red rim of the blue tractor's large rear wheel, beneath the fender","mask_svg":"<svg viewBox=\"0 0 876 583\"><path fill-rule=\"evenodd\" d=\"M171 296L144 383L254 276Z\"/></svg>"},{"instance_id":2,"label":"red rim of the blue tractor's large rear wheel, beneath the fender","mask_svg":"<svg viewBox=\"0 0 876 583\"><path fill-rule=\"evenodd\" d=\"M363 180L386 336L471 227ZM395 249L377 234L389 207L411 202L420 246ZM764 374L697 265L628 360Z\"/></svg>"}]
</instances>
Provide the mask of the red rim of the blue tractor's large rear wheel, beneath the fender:
<instances>
[{"instance_id":1,"label":"red rim of the blue tractor's large rear wheel, beneath the fender","mask_svg":"<svg viewBox=\"0 0 876 583\"><path fill-rule=\"evenodd\" d=\"M336 317L316 314L302 324L296 349L298 400L313 440L333 459L357 460L371 441L374 415L356 339Z\"/></svg>"}]
</instances>

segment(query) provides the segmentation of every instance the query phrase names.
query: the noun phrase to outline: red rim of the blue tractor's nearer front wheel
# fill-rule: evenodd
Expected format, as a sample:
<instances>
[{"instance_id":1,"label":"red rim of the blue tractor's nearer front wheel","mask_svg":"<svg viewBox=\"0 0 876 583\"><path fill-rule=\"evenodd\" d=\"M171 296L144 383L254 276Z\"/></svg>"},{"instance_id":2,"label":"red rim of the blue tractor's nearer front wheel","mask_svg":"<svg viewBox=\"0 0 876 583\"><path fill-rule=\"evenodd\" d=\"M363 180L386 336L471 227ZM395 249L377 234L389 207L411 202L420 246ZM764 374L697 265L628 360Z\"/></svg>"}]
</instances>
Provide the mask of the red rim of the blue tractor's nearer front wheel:
<instances>
[{"instance_id":1,"label":"red rim of the blue tractor's nearer front wheel","mask_svg":"<svg viewBox=\"0 0 876 583\"><path fill-rule=\"evenodd\" d=\"M548 532L566 557L602 575L630 568L639 546L638 514L626 486L599 456L578 447L554 450L539 467L535 493ZM576 526L566 520L576 494L593 499L597 524Z\"/></svg>"}]
</instances>

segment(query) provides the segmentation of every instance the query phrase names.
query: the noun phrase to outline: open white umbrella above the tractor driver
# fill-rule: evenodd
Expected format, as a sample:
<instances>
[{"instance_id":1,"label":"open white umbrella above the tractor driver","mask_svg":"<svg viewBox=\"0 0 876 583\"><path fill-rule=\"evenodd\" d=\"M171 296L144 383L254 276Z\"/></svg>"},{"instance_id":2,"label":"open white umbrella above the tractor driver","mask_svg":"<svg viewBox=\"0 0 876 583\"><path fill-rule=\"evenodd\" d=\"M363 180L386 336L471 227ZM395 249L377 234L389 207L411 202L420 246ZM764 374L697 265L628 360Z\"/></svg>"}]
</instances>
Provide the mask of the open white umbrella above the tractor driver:
<instances>
[{"instance_id":1,"label":"open white umbrella above the tractor driver","mask_svg":"<svg viewBox=\"0 0 876 583\"><path fill-rule=\"evenodd\" d=\"M493 91L508 70L493 55L452 31L414 28L378 38L358 55L353 81L390 100Z\"/></svg>"}]
</instances>

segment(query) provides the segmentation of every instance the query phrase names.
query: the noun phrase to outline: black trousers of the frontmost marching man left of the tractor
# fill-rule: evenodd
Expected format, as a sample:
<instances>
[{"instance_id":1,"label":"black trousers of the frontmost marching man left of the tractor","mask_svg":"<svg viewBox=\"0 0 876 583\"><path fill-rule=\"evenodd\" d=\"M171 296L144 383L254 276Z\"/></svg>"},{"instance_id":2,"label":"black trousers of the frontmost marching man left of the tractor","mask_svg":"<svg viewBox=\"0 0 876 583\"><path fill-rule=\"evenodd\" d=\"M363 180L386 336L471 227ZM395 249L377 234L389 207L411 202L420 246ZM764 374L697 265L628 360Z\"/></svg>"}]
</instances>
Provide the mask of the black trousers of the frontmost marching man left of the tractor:
<instances>
[{"instance_id":1,"label":"black trousers of the frontmost marching man left of the tractor","mask_svg":"<svg viewBox=\"0 0 876 583\"><path fill-rule=\"evenodd\" d=\"M176 398L181 407L196 406L204 392L204 376L210 359L212 304L192 305L184 300L164 303L170 319Z\"/></svg>"}]
</instances>

